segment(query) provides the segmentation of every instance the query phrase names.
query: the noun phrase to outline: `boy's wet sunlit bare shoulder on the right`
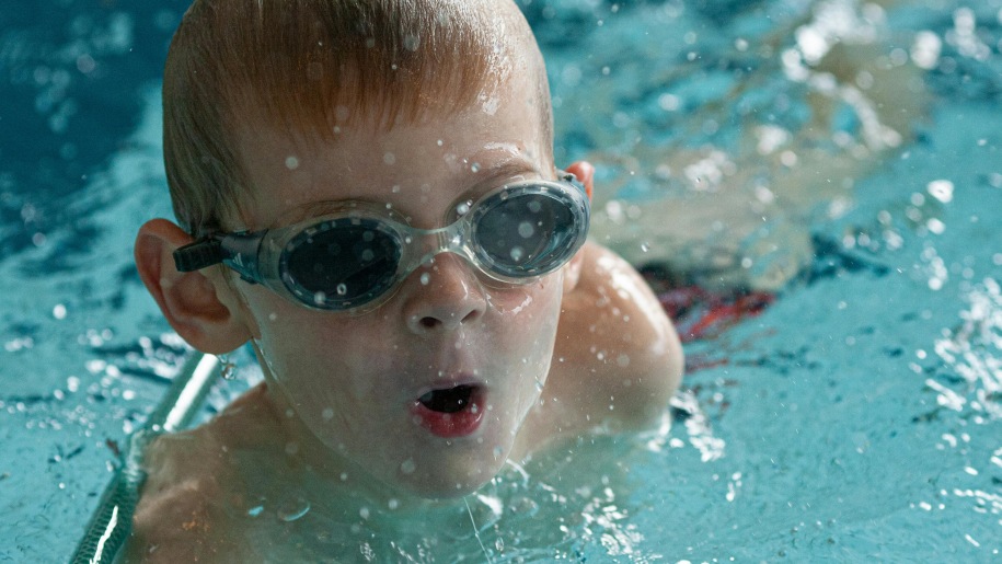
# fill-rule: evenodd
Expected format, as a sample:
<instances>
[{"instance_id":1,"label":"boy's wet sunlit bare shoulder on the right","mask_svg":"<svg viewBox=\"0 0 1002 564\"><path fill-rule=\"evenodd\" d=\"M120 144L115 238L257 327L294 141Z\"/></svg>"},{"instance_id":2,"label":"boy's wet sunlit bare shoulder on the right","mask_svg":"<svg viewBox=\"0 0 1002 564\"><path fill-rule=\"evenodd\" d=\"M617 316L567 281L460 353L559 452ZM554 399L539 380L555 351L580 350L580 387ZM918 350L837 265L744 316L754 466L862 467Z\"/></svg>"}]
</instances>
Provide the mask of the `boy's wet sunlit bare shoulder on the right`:
<instances>
[{"instance_id":1,"label":"boy's wet sunlit bare shoulder on the right","mask_svg":"<svg viewBox=\"0 0 1002 564\"><path fill-rule=\"evenodd\" d=\"M549 435L650 425L682 376L671 321L641 275L587 243L578 283L564 296L540 410Z\"/></svg>"}]
</instances>

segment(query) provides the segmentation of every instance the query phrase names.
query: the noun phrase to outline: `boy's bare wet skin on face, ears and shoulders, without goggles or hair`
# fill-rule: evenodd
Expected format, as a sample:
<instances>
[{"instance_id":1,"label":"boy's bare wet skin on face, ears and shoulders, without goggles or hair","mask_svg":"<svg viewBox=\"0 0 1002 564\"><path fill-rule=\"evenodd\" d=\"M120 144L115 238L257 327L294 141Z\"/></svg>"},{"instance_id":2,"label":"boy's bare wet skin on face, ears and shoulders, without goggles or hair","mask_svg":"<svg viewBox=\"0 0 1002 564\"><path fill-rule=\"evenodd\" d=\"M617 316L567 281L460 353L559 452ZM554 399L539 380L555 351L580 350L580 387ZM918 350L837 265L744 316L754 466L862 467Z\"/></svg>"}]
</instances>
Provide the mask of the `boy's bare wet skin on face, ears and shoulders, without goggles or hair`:
<instances>
[{"instance_id":1,"label":"boy's bare wet skin on face, ears and shoulders, without goggles or hair","mask_svg":"<svg viewBox=\"0 0 1002 564\"><path fill-rule=\"evenodd\" d=\"M359 119L332 139L249 125L239 147L249 197L227 228L288 225L331 203L362 200L433 229L505 183L552 180L528 92L527 80L512 78L491 113L471 107L389 131ZM587 163L568 171L590 185ZM338 499L384 507L392 498L403 508L465 495L509 458L562 437L649 425L681 375L678 337L654 296L595 244L523 285L441 254L378 309L352 316L307 309L222 267L181 275L163 257L188 241L165 220L145 226L143 280L196 347L223 352L250 339L265 383L212 423L150 448L135 529L145 541L133 550L170 539L237 550L233 515L245 515L254 496L290 487L333 513ZM178 293L201 316L185 318ZM425 413L421 399L458 385L474 390L463 410L470 418L475 406L477 421L436 431L429 418L441 417Z\"/></svg>"}]
</instances>

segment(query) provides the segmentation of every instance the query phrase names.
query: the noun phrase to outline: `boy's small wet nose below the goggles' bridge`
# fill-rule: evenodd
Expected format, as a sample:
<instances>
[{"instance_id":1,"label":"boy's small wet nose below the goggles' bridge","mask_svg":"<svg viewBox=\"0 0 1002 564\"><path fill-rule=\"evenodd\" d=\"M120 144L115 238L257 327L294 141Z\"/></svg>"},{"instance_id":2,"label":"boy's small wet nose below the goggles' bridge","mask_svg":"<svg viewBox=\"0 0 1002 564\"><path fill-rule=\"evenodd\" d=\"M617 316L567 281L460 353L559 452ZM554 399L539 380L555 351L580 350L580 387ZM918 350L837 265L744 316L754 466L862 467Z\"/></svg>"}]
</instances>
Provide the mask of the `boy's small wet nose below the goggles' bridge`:
<instances>
[{"instance_id":1,"label":"boy's small wet nose below the goggles' bridge","mask_svg":"<svg viewBox=\"0 0 1002 564\"><path fill-rule=\"evenodd\" d=\"M452 253L441 253L434 264L411 273L404 313L407 327L417 334L454 331L487 310L487 297L473 266Z\"/></svg>"}]
</instances>

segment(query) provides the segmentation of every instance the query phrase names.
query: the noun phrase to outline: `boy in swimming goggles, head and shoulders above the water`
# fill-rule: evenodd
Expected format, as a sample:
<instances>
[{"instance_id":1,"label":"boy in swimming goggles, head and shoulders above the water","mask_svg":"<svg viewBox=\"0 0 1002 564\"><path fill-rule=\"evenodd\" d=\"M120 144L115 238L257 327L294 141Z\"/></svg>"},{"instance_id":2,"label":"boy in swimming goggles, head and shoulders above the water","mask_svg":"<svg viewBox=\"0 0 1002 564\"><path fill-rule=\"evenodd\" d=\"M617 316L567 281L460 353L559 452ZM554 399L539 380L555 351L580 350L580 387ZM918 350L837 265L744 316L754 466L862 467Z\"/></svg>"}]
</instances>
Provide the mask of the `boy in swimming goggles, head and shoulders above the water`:
<instances>
[{"instance_id":1,"label":"boy in swimming goggles, head and shoulders above the water","mask_svg":"<svg viewBox=\"0 0 1002 564\"><path fill-rule=\"evenodd\" d=\"M584 242L594 171L556 170L551 119L508 0L195 2L164 79L186 229L146 223L136 260L181 336L250 341L265 381L150 445L130 557L261 560L261 510L419 511L664 412L678 337Z\"/></svg>"}]
</instances>

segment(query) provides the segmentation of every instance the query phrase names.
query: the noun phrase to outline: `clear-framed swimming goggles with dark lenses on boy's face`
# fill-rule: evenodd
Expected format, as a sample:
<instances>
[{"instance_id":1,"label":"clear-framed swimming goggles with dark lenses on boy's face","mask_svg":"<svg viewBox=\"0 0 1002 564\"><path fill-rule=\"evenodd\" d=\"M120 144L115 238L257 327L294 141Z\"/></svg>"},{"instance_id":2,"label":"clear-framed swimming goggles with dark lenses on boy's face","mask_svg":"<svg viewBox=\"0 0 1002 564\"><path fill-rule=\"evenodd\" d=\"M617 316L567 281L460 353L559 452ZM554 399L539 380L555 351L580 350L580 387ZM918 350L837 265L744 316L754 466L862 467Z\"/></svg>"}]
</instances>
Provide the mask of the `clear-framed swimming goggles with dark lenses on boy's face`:
<instances>
[{"instance_id":1,"label":"clear-framed swimming goggles with dark lenses on boy's face","mask_svg":"<svg viewBox=\"0 0 1002 564\"><path fill-rule=\"evenodd\" d=\"M435 255L467 258L487 277L526 284L567 263L585 243L585 187L562 173L493 189L458 205L451 225L416 229L385 205L338 203L287 227L216 233L174 252L178 272L219 263L310 309L361 313Z\"/></svg>"}]
</instances>

